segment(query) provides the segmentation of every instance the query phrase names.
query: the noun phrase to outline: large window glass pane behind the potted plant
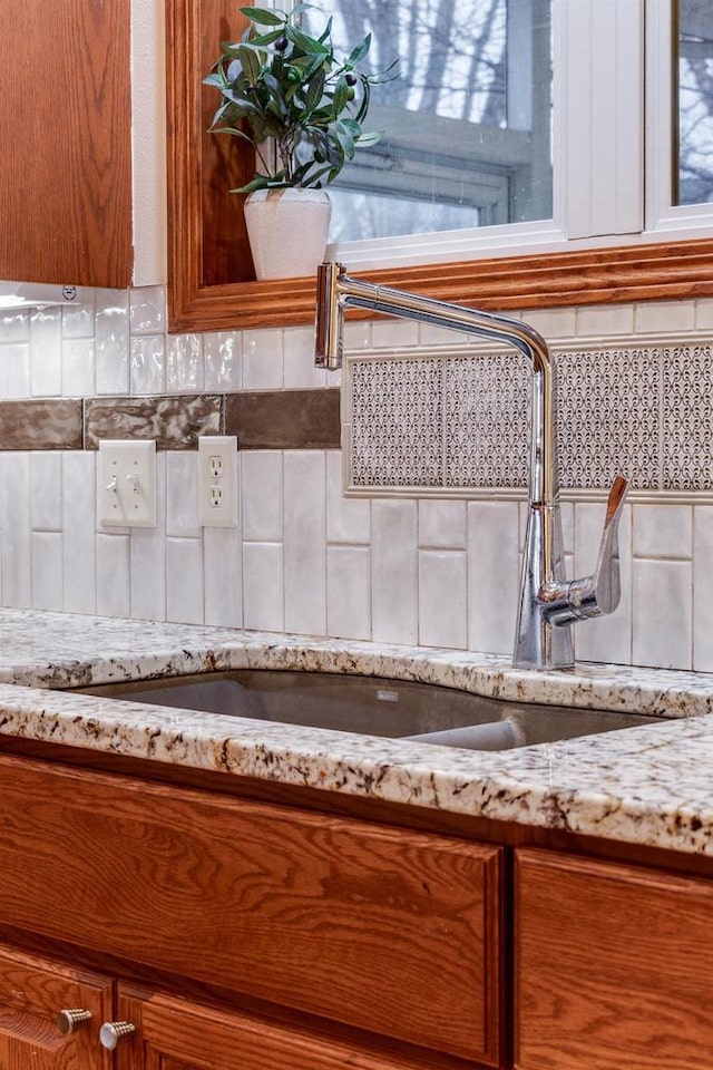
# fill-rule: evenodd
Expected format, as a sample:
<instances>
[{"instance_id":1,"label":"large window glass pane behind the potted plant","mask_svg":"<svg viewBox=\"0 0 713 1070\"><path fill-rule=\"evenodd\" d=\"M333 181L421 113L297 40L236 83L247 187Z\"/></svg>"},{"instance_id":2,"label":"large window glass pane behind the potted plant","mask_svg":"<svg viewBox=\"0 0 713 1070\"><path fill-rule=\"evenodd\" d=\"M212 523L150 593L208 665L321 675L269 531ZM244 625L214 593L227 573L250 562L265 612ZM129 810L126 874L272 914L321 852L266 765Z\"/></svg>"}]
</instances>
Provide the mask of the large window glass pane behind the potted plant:
<instances>
[{"instance_id":1,"label":"large window glass pane behind the potted plant","mask_svg":"<svg viewBox=\"0 0 713 1070\"><path fill-rule=\"evenodd\" d=\"M323 0L309 29L324 10L342 51L371 32L372 70L400 58L381 142L330 186L331 242L551 217L550 0Z\"/></svg>"}]
</instances>

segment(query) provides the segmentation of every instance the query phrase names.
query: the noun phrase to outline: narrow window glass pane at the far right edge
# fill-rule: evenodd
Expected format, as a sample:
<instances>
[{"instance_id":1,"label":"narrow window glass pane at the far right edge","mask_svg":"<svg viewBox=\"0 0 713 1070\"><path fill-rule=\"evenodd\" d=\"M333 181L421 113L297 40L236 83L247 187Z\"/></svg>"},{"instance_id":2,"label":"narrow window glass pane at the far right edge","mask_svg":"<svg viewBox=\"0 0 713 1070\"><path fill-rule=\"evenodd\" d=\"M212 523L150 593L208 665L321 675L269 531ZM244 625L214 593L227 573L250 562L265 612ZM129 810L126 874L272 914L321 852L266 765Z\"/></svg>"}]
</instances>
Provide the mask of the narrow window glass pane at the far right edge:
<instances>
[{"instance_id":1,"label":"narrow window glass pane at the far right edge","mask_svg":"<svg viewBox=\"0 0 713 1070\"><path fill-rule=\"evenodd\" d=\"M677 192L674 204L713 202L713 3L678 0Z\"/></svg>"}]
</instances>

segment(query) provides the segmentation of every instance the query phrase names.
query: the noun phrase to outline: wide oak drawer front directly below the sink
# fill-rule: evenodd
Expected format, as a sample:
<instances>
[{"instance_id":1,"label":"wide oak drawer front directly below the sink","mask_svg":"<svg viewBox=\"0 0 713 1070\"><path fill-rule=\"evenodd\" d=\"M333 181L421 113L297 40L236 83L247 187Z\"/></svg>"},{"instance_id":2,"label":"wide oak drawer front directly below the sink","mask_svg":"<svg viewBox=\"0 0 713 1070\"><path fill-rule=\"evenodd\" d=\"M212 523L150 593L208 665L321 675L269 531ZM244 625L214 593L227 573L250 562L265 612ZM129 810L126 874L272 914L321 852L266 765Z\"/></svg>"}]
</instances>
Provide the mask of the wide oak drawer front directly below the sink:
<instances>
[{"instance_id":1,"label":"wide oak drawer front directly below the sink","mask_svg":"<svg viewBox=\"0 0 713 1070\"><path fill-rule=\"evenodd\" d=\"M0 917L467 1058L499 1052L499 848L0 759Z\"/></svg>"}]
</instances>

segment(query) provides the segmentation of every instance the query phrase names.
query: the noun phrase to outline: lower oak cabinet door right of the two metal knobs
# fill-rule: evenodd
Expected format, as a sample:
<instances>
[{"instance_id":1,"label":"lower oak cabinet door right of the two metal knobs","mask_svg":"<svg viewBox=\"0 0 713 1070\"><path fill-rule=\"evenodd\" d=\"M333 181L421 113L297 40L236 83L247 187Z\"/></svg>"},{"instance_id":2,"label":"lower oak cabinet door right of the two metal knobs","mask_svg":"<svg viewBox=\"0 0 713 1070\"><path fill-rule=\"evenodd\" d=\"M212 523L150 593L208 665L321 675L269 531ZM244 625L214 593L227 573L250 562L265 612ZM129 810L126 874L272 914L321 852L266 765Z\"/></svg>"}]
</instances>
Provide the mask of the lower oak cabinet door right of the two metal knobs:
<instances>
[{"instance_id":1,"label":"lower oak cabinet door right of the two metal knobs","mask_svg":"<svg viewBox=\"0 0 713 1070\"><path fill-rule=\"evenodd\" d=\"M116 1070L432 1070L355 1041L119 985L119 1016L135 1031L117 1044ZM439 1068L448 1064L442 1058ZM457 1060L457 1064L463 1063ZM472 1064L475 1068L475 1064Z\"/></svg>"}]
</instances>

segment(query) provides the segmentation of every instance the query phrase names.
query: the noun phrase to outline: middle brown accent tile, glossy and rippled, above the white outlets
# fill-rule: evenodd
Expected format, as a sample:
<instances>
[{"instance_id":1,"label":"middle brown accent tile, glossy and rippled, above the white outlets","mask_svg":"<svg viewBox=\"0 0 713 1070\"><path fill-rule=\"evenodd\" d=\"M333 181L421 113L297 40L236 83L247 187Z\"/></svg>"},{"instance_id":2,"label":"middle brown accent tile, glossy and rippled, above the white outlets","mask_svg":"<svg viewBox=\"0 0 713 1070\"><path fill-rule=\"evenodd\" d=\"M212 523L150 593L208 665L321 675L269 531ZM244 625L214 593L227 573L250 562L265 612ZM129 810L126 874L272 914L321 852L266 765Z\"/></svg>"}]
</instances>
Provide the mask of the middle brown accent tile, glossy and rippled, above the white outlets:
<instances>
[{"instance_id":1,"label":"middle brown accent tile, glossy and rippled, above the white outlets","mask_svg":"<svg viewBox=\"0 0 713 1070\"><path fill-rule=\"evenodd\" d=\"M196 449L201 435L222 432L222 395L88 398L85 448L102 438L154 439L157 449Z\"/></svg>"}]
</instances>

